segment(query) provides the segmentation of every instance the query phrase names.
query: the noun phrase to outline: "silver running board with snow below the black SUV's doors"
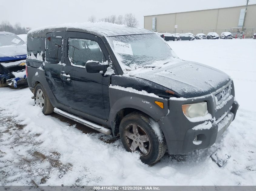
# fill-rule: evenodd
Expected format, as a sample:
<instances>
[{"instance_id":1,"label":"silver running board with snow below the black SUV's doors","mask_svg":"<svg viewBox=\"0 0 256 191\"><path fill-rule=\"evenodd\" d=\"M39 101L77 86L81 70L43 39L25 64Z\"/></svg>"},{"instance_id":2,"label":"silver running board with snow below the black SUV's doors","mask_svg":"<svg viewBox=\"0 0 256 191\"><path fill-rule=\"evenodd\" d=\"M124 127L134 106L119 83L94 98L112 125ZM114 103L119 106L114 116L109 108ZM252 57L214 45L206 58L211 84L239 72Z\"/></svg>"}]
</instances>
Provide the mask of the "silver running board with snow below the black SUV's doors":
<instances>
[{"instance_id":1,"label":"silver running board with snow below the black SUV's doors","mask_svg":"<svg viewBox=\"0 0 256 191\"><path fill-rule=\"evenodd\" d=\"M99 131L99 132L102 132L102 133L104 133L104 134L106 134L106 135L110 135L110 134L112 133L111 129L105 128L105 127L100 126L100 125L97 125L97 124L92 123L92 122L90 122L90 121L87 121L87 120L85 120L85 119L81 119L81 118L79 118L78 116L75 116L75 115L72 115L72 114L67 113L67 112L65 112L65 111L62 111L62 110L60 110L60 109L58 109L58 108L56 108L56 107L54 108L53 111L54 111L55 113L58 113L58 114L64 116L64 117L67 117L67 118L72 119L72 120L74 120L74 121L76 121L76 122L78 122L78 123L81 123L81 124L83 124L83 125L85 125L85 126L88 126L88 127L90 127L91 129L95 129L95 130L97 130L97 131Z\"/></svg>"}]
</instances>

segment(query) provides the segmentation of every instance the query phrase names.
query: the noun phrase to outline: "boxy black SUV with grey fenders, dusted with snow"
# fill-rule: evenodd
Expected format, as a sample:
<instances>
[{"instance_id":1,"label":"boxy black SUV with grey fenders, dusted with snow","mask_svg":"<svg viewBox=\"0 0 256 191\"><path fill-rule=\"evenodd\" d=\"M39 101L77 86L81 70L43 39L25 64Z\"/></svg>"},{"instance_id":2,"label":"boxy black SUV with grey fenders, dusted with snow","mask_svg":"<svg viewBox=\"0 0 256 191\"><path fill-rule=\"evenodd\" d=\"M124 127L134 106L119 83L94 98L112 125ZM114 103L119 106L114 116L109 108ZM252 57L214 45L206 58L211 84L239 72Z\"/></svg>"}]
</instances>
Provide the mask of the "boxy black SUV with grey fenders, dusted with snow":
<instances>
[{"instance_id":1,"label":"boxy black SUV with grey fenders, dusted with snow","mask_svg":"<svg viewBox=\"0 0 256 191\"><path fill-rule=\"evenodd\" d=\"M44 114L120 136L146 164L167 148L177 154L210 147L238 109L228 75L177 58L149 30L41 28L28 33L27 49L28 85Z\"/></svg>"}]
</instances>

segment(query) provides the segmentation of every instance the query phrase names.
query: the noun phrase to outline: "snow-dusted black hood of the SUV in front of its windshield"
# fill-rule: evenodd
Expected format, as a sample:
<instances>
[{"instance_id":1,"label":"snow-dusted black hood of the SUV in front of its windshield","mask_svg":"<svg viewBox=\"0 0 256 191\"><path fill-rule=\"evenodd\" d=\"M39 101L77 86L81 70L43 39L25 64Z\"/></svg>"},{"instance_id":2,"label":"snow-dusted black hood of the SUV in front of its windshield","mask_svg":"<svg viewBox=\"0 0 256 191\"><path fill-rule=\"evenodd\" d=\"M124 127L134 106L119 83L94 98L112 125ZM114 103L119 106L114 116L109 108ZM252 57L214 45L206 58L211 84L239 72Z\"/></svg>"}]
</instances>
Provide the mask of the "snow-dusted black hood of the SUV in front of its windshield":
<instances>
[{"instance_id":1,"label":"snow-dusted black hood of the SUV in front of its windshield","mask_svg":"<svg viewBox=\"0 0 256 191\"><path fill-rule=\"evenodd\" d=\"M177 92L182 97L198 97L221 88L231 78L218 69L197 62L167 64L134 77L146 79Z\"/></svg>"}]
</instances>

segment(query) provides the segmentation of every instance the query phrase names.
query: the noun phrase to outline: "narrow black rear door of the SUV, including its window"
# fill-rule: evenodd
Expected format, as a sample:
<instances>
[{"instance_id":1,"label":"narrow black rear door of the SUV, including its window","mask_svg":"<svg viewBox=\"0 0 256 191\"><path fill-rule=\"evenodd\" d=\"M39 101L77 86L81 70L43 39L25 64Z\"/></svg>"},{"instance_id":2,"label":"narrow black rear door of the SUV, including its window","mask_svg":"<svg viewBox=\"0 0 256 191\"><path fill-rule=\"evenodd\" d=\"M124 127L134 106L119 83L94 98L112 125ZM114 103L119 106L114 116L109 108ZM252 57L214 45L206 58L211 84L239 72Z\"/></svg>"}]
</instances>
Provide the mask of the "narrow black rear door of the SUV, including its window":
<instances>
[{"instance_id":1,"label":"narrow black rear door of the SUV, including its window","mask_svg":"<svg viewBox=\"0 0 256 191\"><path fill-rule=\"evenodd\" d=\"M67 104L63 86L62 71L64 63L65 31L46 34L45 50L45 78L59 103Z\"/></svg>"}]
</instances>

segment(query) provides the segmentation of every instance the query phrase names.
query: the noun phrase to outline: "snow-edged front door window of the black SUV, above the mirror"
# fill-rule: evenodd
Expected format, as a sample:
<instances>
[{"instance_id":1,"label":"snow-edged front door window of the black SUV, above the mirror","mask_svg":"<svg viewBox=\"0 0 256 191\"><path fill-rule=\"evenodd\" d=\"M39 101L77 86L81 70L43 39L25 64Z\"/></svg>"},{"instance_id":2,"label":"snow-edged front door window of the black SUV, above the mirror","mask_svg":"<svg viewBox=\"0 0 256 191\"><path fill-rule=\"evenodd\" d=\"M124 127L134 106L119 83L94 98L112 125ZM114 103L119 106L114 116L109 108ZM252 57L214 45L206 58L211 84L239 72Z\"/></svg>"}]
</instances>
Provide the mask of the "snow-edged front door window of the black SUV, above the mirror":
<instances>
[{"instance_id":1,"label":"snow-edged front door window of the black SUV, above the mirror","mask_svg":"<svg viewBox=\"0 0 256 191\"><path fill-rule=\"evenodd\" d=\"M97 42L75 38L68 39L68 59L71 65L77 65L78 67L85 67L89 60L105 61L104 54Z\"/></svg>"}]
</instances>

